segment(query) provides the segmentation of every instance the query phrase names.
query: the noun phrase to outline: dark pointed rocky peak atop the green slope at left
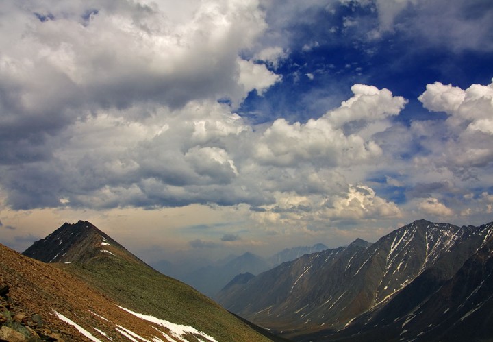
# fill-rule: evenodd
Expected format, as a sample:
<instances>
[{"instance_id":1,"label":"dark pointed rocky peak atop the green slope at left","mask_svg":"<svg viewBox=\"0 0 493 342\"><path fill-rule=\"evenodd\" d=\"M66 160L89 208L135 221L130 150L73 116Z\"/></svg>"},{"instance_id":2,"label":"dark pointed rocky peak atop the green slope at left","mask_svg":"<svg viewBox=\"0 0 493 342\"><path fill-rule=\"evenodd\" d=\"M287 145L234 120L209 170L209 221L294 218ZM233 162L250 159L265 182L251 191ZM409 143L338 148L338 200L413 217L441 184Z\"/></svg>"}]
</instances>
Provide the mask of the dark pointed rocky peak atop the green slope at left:
<instances>
[{"instance_id":1,"label":"dark pointed rocky peak atop the green slope at left","mask_svg":"<svg viewBox=\"0 0 493 342\"><path fill-rule=\"evenodd\" d=\"M121 256L140 261L108 234L88 221L64 223L45 239L36 241L23 254L42 262L84 263L97 256Z\"/></svg>"}]
</instances>

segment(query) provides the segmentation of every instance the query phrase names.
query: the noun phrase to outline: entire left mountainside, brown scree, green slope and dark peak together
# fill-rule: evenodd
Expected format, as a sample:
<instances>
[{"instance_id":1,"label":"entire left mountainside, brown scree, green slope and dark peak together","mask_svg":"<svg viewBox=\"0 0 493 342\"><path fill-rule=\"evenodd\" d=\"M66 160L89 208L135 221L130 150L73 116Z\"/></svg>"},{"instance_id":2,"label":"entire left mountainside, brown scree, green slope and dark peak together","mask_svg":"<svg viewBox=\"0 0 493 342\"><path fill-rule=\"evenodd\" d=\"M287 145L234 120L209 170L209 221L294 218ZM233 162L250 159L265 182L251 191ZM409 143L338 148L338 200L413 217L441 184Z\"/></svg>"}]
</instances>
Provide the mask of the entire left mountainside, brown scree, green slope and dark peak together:
<instances>
[{"instance_id":1,"label":"entire left mountainside, brown scree, green slope and dark peak together","mask_svg":"<svg viewBox=\"0 0 493 342\"><path fill-rule=\"evenodd\" d=\"M0 252L1 341L282 341L89 222L65 223L24 255Z\"/></svg>"}]
</instances>

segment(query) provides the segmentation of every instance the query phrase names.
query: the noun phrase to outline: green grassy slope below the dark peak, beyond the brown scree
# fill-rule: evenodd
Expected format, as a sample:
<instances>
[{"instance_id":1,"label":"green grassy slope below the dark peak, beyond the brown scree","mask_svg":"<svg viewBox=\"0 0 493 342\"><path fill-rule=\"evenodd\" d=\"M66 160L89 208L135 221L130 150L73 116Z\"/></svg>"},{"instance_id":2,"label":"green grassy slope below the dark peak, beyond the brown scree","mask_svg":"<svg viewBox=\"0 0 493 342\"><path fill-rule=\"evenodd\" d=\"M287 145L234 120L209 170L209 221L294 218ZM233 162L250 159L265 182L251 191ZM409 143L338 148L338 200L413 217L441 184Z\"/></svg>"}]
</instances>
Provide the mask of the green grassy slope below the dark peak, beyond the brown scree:
<instances>
[{"instance_id":1,"label":"green grassy slope below the dark peak, beyond the brown scree","mask_svg":"<svg viewBox=\"0 0 493 342\"><path fill-rule=\"evenodd\" d=\"M218 341L270 341L192 287L151 267L108 255L58 265L138 313L193 326Z\"/></svg>"}]
</instances>

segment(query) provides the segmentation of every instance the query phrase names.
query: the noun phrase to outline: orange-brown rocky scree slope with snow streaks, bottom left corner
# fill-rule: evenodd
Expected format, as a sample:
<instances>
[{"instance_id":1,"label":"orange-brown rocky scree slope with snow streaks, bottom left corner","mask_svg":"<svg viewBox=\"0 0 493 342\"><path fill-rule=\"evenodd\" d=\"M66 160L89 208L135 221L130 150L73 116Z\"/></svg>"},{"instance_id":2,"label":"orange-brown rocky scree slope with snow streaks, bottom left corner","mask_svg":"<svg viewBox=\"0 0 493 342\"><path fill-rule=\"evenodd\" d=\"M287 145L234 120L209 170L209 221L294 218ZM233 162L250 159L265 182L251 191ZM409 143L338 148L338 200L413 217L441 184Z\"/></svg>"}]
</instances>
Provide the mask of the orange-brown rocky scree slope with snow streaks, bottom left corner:
<instances>
[{"instance_id":1,"label":"orange-brown rocky scree slope with snow streaks, bottom left corner","mask_svg":"<svg viewBox=\"0 0 493 342\"><path fill-rule=\"evenodd\" d=\"M14 328L24 337L7 341L129 341L120 332L125 329L138 334L138 341L157 341L156 337L183 341L167 328L118 308L109 297L53 265L27 258L3 245L0 256L0 288L9 286L8 293L0 296L0 326L3 333ZM77 323L93 338L59 319L55 312ZM156 328L173 339L166 339ZM191 334L183 338L197 341Z\"/></svg>"}]
</instances>

